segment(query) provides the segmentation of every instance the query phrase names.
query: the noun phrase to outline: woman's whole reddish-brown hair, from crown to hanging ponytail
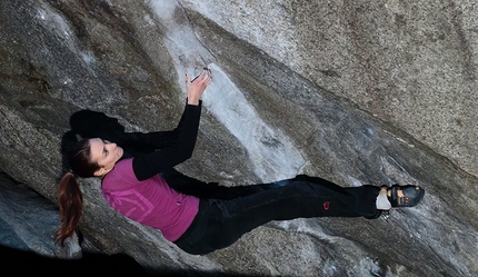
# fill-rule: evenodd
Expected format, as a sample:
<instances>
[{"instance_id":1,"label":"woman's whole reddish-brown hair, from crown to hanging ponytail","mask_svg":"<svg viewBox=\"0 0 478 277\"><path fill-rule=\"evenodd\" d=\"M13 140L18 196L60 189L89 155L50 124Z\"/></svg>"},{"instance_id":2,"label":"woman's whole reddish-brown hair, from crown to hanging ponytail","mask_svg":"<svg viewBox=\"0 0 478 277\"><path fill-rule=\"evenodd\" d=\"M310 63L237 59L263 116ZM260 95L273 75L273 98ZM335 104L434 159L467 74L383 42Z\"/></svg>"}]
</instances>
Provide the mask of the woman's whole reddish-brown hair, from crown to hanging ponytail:
<instances>
[{"instance_id":1,"label":"woman's whole reddish-brown hair, from crown to hanging ponytail","mask_svg":"<svg viewBox=\"0 0 478 277\"><path fill-rule=\"evenodd\" d=\"M83 196L74 175L82 178L93 177L94 171L100 169L100 166L90 159L90 141L88 139L74 145L69 152L68 161L72 172L67 172L61 178L58 194L60 227L56 235L57 241L60 241L61 245L78 228L83 210Z\"/></svg>"}]
</instances>

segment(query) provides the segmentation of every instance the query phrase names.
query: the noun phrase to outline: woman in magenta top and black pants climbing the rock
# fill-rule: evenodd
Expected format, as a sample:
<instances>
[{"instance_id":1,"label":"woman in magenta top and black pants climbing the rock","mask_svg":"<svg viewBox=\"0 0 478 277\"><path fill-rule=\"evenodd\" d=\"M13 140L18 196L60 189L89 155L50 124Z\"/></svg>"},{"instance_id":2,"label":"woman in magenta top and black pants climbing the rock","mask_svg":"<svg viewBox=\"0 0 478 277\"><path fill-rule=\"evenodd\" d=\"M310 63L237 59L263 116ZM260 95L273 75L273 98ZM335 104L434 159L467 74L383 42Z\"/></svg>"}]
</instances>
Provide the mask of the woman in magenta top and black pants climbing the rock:
<instances>
[{"instance_id":1,"label":"woman in magenta top and black pants climbing the rock","mask_svg":"<svg viewBox=\"0 0 478 277\"><path fill-rule=\"evenodd\" d=\"M83 139L70 151L69 165L79 177L102 178L102 194L113 209L161 230L166 239L189 254L203 255L230 246L243 234L271 220L372 219L391 207L412 207L425 195L421 188L411 185L342 188L308 176L267 185L175 189L163 174L192 155L200 97L211 82L211 72L205 69L196 80L191 81L188 75L186 79L187 105L178 128L171 132L173 144L158 141L156 148L162 149L126 158L123 148L117 144L100 138ZM78 228L81 217L82 197L73 174L67 174L60 181L61 226L57 237L61 243Z\"/></svg>"}]
</instances>

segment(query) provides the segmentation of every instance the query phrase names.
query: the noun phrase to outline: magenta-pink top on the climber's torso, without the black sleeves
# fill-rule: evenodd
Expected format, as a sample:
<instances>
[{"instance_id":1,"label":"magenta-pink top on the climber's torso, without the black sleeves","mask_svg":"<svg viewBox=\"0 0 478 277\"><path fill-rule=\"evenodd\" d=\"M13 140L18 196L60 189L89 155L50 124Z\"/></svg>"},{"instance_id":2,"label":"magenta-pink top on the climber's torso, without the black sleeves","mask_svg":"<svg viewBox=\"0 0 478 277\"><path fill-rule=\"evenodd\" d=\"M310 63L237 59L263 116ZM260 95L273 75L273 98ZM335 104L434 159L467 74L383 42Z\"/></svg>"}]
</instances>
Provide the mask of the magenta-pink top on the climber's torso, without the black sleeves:
<instances>
[{"instance_id":1,"label":"magenta-pink top on the climber's torso, without the black sleeves","mask_svg":"<svg viewBox=\"0 0 478 277\"><path fill-rule=\"evenodd\" d=\"M160 175L139 181L132 158L116 164L103 178L101 190L114 210L161 230L170 241L185 234L199 209L199 198L173 190Z\"/></svg>"}]
</instances>

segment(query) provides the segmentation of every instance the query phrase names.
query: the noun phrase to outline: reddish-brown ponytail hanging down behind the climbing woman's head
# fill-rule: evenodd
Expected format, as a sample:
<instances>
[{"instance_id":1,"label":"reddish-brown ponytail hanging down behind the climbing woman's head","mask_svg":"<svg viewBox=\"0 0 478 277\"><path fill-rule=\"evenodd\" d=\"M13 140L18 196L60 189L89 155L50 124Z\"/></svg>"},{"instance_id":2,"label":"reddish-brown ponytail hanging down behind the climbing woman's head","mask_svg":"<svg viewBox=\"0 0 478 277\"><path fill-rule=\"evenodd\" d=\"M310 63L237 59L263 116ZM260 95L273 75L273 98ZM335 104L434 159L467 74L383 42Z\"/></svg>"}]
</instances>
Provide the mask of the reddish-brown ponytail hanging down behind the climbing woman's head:
<instances>
[{"instance_id":1,"label":"reddish-brown ponytail hanging down behind the climbing woman's head","mask_svg":"<svg viewBox=\"0 0 478 277\"><path fill-rule=\"evenodd\" d=\"M73 174L68 172L61 178L58 200L61 225L57 230L57 241L63 245L64 240L71 237L78 228L83 210L83 196Z\"/></svg>"}]
</instances>

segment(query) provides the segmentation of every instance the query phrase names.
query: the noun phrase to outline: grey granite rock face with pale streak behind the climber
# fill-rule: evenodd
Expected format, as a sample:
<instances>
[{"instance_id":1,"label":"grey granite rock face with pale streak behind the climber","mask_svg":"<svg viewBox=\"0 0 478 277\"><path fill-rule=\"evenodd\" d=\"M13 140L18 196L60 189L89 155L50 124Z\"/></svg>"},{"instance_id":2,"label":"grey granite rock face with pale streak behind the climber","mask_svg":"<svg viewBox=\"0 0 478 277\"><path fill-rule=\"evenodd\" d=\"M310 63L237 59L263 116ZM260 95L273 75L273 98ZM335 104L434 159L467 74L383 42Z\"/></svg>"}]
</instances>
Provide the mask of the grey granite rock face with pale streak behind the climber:
<instances>
[{"instance_id":1,"label":"grey granite rock face with pale streak behind the climber","mask_svg":"<svg viewBox=\"0 0 478 277\"><path fill-rule=\"evenodd\" d=\"M172 129L185 72L207 66L198 144L179 171L223 186L298 174L417 184L424 201L389 221L270 222L191 256L84 179L91 244L152 270L478 275L477 13L472 1L430 0L1 1L0 169L57 202L71 115Z\"/></svg>"}]
</instances>

